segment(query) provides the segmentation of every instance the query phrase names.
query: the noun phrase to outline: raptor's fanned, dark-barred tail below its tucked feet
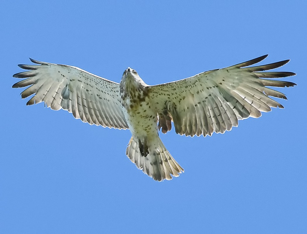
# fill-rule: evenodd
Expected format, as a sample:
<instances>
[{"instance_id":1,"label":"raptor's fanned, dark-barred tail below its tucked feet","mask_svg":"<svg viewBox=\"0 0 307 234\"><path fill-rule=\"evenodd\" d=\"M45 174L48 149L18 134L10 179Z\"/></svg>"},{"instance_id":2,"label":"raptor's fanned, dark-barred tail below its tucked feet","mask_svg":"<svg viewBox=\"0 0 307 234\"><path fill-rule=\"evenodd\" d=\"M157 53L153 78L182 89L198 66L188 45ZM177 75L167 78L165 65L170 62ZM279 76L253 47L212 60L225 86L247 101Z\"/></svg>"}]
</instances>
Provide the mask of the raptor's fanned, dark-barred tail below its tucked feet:
<instances>
[{"instance_id":1,"label":"raptor's fanned, dark-barred tail below its tucked feet","mask_svg":"<svg viewBox=\"0 0 307 234\"><path fill-rule=\"evenodd\" d=\"M126 155L138 169L157 181L171 180L173 177L178 177L179 174L184 172L183 168L169 154L160 138L158 147L156 149L149 149L149 154L144 157L140 153L138 142L134 141L133 137L131 137Z\"/></svg>"}]
</instances>

